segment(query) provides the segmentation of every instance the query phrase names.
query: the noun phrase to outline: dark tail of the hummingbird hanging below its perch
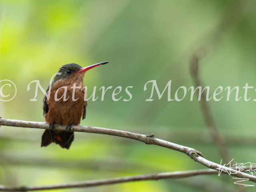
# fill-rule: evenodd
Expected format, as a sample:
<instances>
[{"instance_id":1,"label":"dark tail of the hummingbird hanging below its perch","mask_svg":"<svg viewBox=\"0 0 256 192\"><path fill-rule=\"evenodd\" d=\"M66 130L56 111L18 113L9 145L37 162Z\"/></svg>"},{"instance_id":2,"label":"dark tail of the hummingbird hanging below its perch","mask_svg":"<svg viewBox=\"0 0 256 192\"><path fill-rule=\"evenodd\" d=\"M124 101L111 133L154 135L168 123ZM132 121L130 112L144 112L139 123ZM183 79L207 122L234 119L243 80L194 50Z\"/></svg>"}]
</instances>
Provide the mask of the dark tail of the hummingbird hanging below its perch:
<instances>
[{"instance_id":1,"label":"dark tail of the hummingbird hanging below its perch","mask_svg":"<svg viewBox=\"0 0 256 192\"><path fill-rule=\"evenodd\" d=\"M51 137L50 131L48 129L44 131L44 134L42 135L41 147L48 146L52 142L52 138L54 138L54 143L59 144L62 148L70 148L71 143L74 141L74 132L63 131L60 133L56 133L52 131Z\"/></svg>"}]
</instances>

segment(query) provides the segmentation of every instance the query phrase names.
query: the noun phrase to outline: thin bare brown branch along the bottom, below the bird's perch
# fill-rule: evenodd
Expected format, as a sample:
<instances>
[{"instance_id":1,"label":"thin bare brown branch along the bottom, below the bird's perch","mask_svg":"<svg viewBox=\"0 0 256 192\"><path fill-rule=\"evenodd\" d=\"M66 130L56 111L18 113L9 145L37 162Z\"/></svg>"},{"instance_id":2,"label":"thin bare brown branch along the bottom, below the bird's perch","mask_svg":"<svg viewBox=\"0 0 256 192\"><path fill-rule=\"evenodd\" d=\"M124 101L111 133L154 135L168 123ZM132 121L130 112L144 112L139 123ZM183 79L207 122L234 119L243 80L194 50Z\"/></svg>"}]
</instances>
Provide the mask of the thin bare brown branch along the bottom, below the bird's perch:
<instances>
[{"instance_id":1,"label":"thin bare brown branch along the bottom, below the bird's perch","mask_svg":"<svg viewBox=\"0 0 256 192\"><path fill-rule=\"evenodd\" d=\"M233 167L234 168L234 167ZM252 167L244 167L244 170L251 170ZM218 174L217 170L212 169L202 169L202 170L192 170L192 171L177 171L177 172L163 172L163 173L152 173L137 176L126 176L117 177L111 179L100 179L100 180L90 180L82 182L72 182L66 184L53 184L53 185L43 185L43 186L2 186L0 185L0 191L35 191L35 190L50 190L50 189L62 189L62 188L85 188L91 186L102 186L108 184L117 184L132 181L141 180L158 180L166 178L186 178L197 175L209 175Z\"/></svg>"}]
</instances>

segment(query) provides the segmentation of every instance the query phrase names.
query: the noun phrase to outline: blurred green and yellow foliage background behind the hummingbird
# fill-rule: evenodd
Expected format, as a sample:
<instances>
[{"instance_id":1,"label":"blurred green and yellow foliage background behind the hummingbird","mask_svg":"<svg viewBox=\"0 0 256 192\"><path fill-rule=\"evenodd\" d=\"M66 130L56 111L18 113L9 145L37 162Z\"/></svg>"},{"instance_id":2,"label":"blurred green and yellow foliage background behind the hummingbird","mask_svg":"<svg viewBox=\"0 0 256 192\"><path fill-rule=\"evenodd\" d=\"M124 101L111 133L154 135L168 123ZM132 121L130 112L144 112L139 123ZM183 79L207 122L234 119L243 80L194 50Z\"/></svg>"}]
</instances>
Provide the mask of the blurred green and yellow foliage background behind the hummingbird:
<instances>
[{"instance_id":1,"label":"blurred green and yellow foliage background behind the hummingbird","mask_svg":"<svg viewBox=\"0 0 256 192\"><path fill-rule=\"evenodd\" d=\"M180 86L193 85L189 73L192 53L208 50L200 60L200 74L210 96L218 86L240 87L226 101L208 103L235 162L256 159L256 98L254 89L244 101L246 83L256 86L256 2L254 0L1 0L0 80L17 86L10 102L0 101L2 118L43 121L39 91L46 90L50 78L64 64L88 66L110 63L90 70L84 84L88 95L96 86L96 101L88 100L86 120L81 125L113 128L200 150L213 162L222 157L205 124L200 103L190 101L190 91L181 102L146 102L156 80L162 92L172 80L171 96ZM101 101L100 87L113 86ZM122 99L114 102L112 92L122 86ZM130 89L132 100L125 93ZM255 87L254 87L255 88ZM12 94L12 87L4 93ZM118 95L118 96L119 96ZM182 92L180 92L182 97ZM114 136L75 133L70 150L55 144L40 148L44 130L0 128L0 184L41 185L132 176L151 172L172 172L205 168L185 154ZM197 176L187 179L141 181L86 189L52 191L134 191L204 192L236 191L228 176ZM250 183L252 184L252 183ZM255 187L246 187L254 191Z\"/></svg>"}]
</instances>

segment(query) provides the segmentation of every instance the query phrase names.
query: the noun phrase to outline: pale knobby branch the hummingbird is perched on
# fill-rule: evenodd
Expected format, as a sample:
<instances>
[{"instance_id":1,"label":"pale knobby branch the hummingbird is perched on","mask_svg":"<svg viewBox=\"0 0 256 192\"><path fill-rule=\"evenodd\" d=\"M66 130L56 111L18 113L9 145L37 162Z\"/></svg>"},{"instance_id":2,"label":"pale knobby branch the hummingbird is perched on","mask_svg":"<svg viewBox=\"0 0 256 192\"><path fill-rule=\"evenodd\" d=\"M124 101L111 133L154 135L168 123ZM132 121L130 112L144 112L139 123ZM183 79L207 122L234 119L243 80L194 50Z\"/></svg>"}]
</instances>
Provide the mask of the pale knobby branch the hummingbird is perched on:
<instances>
[{"instance_id":1,"label":"pale knobby branch the hummingbird is perched on","mask_svg":"<svg viewBox=\"0 0 256 192\"><path fill-rule=\"evenodd\" d=\"M4 126L14 126L14 127L26 127L26 128L40 128L40 129L48 129L49 125L43 122L29 122L29 121L21 121L21 120L10 120L10 119L3 119L0 118L0 125ZM56 130L66 131L66 126L56 125ZM232 173L232 176L236 176L239 178L247 178L250 181L256 182L256 176L238 172L236 170L230 169L228 167L221 166L209 160L203 158L204 156L200 151L197 151L193 148L189 148L186 146L178 145L175 143L171 143L168 141L164 141L161 139L154 138L154 134L151 135L143 135L137 134L132 132L114 130L114 129L106 129L106 128L98 128L98 127L89 127L89 126L73 126L71 131L73 132L86 132L86 133L96 133L96 134L105 134L105 135L112 135L112 136L119 136L124 138L130 138L134 140L138 140L140 142L144 142L146 144L158 145L165 148L169 148L172 150L176 150L188 155L194 161L208 167L211 169L223 169L228 170L229 173ZM228 174L228 172L224 172Z\"/></svg>"}]
</instances>

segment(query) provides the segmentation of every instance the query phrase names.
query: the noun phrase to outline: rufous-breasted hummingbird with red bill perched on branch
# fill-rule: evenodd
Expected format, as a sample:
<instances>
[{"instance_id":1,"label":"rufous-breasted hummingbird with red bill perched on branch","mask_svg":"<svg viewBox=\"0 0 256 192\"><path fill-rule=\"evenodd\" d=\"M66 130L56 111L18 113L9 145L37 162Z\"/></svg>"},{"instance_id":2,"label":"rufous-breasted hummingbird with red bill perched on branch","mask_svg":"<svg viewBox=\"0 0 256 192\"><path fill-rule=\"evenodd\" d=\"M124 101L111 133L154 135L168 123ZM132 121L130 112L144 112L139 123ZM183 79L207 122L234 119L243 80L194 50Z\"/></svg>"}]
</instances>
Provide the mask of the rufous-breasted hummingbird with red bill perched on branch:
<instances>
[{"instance_id":1,"label":"rufous-breasted hummingbird with red bill perched on branch","mask_svg":"<svg viewBox=\"0 0 256 192\"><path fill-rule=\"evenodd\" d=\"M86 71L107 63L101 62L84 68L70 63L59 69L59 75L56 75L49 85L43 100L44 121L49 124L49 129L46 129L42 135L41 147L53 142L62 148L70 148L74 140L74 132L71 132L71 128L80 124L81 117L82 120L86 117L87 101L84 86ZM66 131L55 130L54 124L67 126Z\"/></svg>"}]
</instances>

